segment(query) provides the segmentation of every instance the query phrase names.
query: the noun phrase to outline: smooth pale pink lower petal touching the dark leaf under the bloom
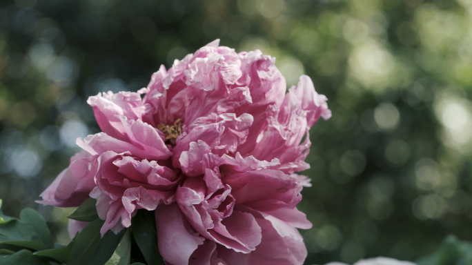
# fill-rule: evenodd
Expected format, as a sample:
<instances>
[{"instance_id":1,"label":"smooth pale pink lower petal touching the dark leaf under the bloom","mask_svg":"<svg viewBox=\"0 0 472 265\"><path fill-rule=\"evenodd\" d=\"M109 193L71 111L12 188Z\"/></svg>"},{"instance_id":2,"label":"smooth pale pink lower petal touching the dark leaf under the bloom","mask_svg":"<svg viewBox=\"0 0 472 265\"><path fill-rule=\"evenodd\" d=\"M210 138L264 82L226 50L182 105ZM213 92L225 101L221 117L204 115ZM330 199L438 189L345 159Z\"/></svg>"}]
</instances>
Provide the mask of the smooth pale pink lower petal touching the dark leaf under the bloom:
<instances>
[{"instance_id":1,"label":"smooth pale pink lower petal touching the dark leaf under the bloom","mask_svg":"<svg viewBox=\"0 0 472 265\"><path fill-rule=\"evenodd\" d=\"M155 211L159 252L169 264L187 265L204 238L188 224L177 204L160 205Z\"/></svg>"}]
</instances>

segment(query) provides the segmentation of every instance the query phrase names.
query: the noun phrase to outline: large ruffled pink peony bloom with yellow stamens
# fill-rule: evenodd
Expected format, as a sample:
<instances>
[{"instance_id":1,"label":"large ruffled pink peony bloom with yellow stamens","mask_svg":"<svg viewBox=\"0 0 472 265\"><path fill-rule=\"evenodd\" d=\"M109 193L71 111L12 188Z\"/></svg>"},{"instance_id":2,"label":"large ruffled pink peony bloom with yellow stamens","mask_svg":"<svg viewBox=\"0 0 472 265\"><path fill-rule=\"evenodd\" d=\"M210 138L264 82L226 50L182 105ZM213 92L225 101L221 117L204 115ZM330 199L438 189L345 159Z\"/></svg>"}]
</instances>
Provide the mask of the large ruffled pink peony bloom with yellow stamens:
<instances>
[{"instance_id":1,"label":"large ruffled pink peony bloom with yellow stamens","mask_svg":"<svg viewBox=\"0 0 472 265\"><path fill-rule=\"evenodd\" d=\"M90 97L103 133L77 139L85 151L41 203L78 206L90 194L102 235L155 210L168 264L303 264L297 228L311 223L296 205L310 184L295 172L309 168L308 130L331 111L305 75L286 93L274 63L217 40L161 66L147 88Z\"/></svg>"}]
</instances>

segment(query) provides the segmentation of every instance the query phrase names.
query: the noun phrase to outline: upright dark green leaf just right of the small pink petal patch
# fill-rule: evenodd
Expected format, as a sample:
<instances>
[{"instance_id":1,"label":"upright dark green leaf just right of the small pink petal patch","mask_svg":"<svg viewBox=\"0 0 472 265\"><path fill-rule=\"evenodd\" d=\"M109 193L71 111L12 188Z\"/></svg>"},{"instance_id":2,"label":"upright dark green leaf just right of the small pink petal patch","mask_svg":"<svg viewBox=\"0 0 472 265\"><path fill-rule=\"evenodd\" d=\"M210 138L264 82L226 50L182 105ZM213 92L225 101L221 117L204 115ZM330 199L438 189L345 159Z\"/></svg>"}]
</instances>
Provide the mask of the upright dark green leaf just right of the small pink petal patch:
<instances>
[{"instance_id":1,"label":"upright dark green leaf just right of the small pink petal patch","mask_svg":"<svg viewBox=\"0 0 472 265\"><path fill-rule=\"evenodd\" d=\"M103 224L104 221L96 219L83 228L77 237L75 237L75 244L69 256L68 265L88 264L90 257L92 257L100 243L100 228Z\"/></svg>"}]
</instances>

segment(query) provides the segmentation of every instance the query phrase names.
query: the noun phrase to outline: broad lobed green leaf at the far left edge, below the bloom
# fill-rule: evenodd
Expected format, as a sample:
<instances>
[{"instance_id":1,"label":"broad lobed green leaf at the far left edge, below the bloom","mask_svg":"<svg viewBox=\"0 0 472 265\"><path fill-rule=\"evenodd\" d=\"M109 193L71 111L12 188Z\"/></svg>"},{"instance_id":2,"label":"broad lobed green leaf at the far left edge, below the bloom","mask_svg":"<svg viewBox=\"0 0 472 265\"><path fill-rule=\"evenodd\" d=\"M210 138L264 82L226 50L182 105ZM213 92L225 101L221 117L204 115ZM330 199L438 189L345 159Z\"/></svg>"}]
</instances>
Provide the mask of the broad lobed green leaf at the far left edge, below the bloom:
<instances>
[{"instance_id":1,"label":"broad lobed green leaf at the far left edge, below the bloom","mask_svg":"<svg viewBox=\"0 0 472 265\"><path fill-rule=\"evenodd\" d=\"M24 246L37 251L53 246L46 221L37 211L30 208L21 211L20 219L11 219L0 224L0 243Z\"/></svg>"}]
</instances>

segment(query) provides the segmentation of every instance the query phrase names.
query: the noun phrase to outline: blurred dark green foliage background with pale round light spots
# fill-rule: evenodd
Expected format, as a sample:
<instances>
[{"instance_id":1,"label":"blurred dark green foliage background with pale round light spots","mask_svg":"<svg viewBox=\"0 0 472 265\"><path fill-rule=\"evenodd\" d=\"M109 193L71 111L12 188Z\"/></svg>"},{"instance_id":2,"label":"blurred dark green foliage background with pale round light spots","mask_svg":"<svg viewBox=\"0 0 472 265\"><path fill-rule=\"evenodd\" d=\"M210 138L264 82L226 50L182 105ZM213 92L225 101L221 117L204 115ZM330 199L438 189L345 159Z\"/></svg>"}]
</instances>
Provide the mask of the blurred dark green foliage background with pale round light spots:
<instances>
[{"instance_id":1,"label":"blurred dark green foliage background with pale round light spots","mask_svg":"<svg viewBox=\"0 0 472 265\"><path fill-rule=\"evenodd\" d=\"M414 260L472 239L471 0L0 2L0 197L67 244L73 209L34 199L98 131L86 99L146 86L160 64L222 39L309 75L333 118L311 130L299 205L306 264Z\"/></svg>"}]
</instances>

